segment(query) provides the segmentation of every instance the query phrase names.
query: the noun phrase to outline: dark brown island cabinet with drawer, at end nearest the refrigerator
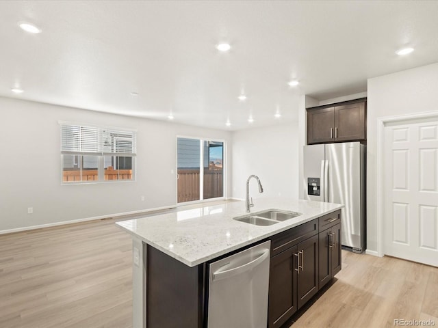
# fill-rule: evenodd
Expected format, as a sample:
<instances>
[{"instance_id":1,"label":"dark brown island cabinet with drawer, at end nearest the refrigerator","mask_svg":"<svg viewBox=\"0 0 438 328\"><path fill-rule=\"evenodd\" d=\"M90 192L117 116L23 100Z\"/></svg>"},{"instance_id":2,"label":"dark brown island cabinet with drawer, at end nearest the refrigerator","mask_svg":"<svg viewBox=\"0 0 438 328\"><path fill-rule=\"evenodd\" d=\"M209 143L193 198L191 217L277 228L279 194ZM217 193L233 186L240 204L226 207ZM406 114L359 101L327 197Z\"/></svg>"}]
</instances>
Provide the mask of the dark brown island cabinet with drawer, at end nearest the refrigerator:
<instances>
[{"instance_id":1,"label":"dark brown island cabinet with drawer, at end nearest the refrigerator","mask_svg":"<svg viewBox=\"0 0 438 328\"><path fill-rule=\"evenodd\" d=\"M320 217L319 288L327 284L342 267L340 221L340 211Z\"/></svg>"}]
</instances>

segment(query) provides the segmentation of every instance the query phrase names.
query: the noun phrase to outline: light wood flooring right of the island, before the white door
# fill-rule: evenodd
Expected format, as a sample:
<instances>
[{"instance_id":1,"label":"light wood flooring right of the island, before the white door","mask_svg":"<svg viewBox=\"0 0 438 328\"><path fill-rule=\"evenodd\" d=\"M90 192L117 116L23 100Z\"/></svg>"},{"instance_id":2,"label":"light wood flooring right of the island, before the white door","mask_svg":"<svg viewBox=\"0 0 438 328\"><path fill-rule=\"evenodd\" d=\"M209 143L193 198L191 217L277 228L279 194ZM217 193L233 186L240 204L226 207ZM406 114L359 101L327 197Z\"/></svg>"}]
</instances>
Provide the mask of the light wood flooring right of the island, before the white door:
<instances>
[{"instance_id":1,"label":"light wood flooring right of the island, before the white door","mask_svg":"<svg viewBox=\"0 0 438 328\"><path fill-rule=\"evenodd\" d=\"M429 327L438 327L438 268L342 251L333 284L290 321L293 328L400 326L394 320L430 320Z\"/></svg>"}]
</instances>

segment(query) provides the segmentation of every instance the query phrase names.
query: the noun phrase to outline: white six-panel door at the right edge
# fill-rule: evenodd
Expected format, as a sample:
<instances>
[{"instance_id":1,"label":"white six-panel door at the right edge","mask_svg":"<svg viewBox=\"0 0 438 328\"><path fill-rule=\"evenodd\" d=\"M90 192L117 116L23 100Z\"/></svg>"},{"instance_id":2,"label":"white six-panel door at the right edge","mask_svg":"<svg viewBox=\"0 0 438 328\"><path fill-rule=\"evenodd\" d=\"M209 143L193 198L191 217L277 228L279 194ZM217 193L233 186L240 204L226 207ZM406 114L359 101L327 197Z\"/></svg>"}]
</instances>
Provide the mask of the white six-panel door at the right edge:
<instances>
[{"instance_id":1,"label":"white six-panel door at the right edge","mask_svg":"<svg viewBox=\"0 0 438 328\"><path fill-rule=\"evenodd\" d=\"M438 121L385 126L384 252L438 266Z\"/></svg>"}]
</instances>

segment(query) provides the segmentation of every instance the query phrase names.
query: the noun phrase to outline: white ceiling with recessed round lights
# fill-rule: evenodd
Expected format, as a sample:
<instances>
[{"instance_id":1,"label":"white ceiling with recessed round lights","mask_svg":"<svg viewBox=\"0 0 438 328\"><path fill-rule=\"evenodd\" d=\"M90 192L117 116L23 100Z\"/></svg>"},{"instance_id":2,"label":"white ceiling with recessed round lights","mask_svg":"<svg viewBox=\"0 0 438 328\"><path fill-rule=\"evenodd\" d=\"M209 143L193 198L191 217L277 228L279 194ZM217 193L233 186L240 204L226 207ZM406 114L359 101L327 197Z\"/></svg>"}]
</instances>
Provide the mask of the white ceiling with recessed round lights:
<instances>
[{"instance_id":1,"label":"white ceiling with recessed round lights","mask_svg":"<svg viewBox=\"0 0 438 328\"><path fill-rule=\"evenodd\" d=\"M0 96L230 130L296 121L302 94L438 61L437 14L438 1L0 1Z\"/></svg>"}]
</instances>

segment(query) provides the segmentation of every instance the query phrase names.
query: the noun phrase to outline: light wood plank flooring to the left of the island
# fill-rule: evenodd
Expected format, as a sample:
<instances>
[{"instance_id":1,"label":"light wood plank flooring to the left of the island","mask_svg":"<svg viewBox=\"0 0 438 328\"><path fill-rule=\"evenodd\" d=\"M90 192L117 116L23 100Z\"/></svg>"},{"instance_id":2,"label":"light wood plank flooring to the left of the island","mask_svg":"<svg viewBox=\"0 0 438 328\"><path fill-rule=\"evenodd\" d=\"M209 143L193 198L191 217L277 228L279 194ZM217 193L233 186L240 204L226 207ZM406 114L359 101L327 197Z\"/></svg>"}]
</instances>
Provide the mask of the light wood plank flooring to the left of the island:
<instances>
[{"instance_id":1,"label":"light wood plank flooring to the left of the island","mask_svg":"<svg viewBox=\"0 0 438 328\"><path fill-rule=\"evenodd\" d=\"M132 327L132 242L115 221L0 235L0 327Z\"/></svg>"}]
</instances>

